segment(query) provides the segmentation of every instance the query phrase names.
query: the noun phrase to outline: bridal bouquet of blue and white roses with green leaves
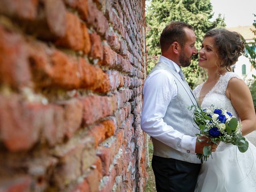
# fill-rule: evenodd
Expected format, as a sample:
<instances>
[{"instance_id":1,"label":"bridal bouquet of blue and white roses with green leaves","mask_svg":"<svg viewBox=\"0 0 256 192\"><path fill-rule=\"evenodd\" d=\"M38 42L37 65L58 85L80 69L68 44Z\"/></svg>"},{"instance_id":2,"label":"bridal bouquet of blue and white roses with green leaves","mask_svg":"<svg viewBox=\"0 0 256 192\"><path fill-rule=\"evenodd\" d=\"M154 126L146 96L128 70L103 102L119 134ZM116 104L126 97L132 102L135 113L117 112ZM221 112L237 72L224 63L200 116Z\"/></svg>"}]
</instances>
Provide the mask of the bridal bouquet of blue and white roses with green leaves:
<instances>
[{"instance_id":1,"label":"bridal bouquet of blue and white roses with green leaves","mask_svg":"<svg viewBox=\"0 0 256 192\"><path fill-rule=\"evenodd\" d=\"M195 108L193 118L200 129L200 134L196 134L196 136L209 138L209 144L211 142L218 144L222 141L226 144L238 146L238 150L242 153L248 149L248 141L242 137L242 124L227 110L214 108L214 106ZM197 142L203 140L205 139L198 139ZM205 146L203 153L196 154L196 156L207 161L207 158L211 155L211 146Z\"/></svg>"}]
</instances>

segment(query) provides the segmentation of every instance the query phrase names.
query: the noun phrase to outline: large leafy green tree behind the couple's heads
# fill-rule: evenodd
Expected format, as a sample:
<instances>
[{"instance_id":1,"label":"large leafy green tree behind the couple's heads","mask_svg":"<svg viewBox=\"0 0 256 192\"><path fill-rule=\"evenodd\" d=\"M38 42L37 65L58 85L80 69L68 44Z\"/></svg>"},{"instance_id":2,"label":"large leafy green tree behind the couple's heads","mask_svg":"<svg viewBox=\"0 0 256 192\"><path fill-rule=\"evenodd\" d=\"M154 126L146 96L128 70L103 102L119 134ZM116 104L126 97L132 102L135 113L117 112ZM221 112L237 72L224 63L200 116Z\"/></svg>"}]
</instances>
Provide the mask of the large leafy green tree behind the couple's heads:
<instances>
[{"instance_id":1,"label":"large leafy green tree behind the couple's heads","mask_svg":"<svg viewBox=\"0 0 256 192\"><path fill-rule=\"evenodd\" d=\"M226 26L220 14L214 21L210 21L213 16L210 0L148 0L147 2L149 3L146 8L148 72L154 67L161 54L160 34L172 20L184 21L194 27L198 50L208 30ZM198 83L198 79L202 80L204 76L204 72L197 64L198 58L195 57L189 67L182 69L192 88Z\"/></svg>"}]
</instances>

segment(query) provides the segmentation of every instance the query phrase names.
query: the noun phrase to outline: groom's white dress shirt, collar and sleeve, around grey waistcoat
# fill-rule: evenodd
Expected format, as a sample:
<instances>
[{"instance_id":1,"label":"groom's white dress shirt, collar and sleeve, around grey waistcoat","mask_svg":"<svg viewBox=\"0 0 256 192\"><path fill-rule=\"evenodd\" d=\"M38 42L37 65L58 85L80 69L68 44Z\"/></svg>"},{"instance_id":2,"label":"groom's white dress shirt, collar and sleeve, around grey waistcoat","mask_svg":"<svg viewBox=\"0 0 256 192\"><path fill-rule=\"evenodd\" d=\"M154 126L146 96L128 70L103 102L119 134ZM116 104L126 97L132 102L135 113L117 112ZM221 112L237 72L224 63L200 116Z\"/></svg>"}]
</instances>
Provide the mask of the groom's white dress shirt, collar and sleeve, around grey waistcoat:
<instances>
[{"instance_id":1,"label":"groom's white dress shirt, collar and sleeve, around grey waistcoat","mask_svg":"<svg viewBox=\"0 0 256 192\"><path fill-rule=\"evenodd\" d=\"M177 73L180 71L180 66L164 56L160 56L158 62L168 64ZM177 93L178 87L169 72L166 70L152 72L143 87L141 128L150 136L180 152L186 153L189 150L190 153L195 154L196 136L185 135L163 120L169 103Z\"/></svg>"}]
</instances>

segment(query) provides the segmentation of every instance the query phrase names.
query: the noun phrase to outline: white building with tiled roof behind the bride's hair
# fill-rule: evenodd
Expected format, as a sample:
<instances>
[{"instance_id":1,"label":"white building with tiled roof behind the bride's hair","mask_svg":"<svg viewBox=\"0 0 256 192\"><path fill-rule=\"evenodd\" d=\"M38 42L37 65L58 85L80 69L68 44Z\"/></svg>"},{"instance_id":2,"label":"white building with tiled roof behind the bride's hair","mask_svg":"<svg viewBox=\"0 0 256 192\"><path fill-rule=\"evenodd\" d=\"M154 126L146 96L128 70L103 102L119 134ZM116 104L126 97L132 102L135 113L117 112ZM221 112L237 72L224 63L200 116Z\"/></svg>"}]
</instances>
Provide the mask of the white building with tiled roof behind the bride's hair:
<instances>
[{"instance_id":1,"label":"white building with tiled roof behind the bride's hair","mask_svg":"<svg viewBox=\"0 0 256 192\"><path fill-rule=\"evenodd\" d=\"M244 39L246 40L246 43L250 43L254 41L254 38L256 36L253 34L251 29L255 29L254 26L238 26L238 27L230 27L226 28L229 31L235 31L240 33ZM250 45L250 44L249 44ZM255 47L250 46L252 50L255 52ZM247 50L245 50L247 51ZM238 61L234 65L234 72L238 74L240 77L244 78L244 80L250 80L253 79L252 74L256 75L256 70L250 63L249 59L246 58L244 55L240 56L238 58Z\"/></svg>"}]
</instances>

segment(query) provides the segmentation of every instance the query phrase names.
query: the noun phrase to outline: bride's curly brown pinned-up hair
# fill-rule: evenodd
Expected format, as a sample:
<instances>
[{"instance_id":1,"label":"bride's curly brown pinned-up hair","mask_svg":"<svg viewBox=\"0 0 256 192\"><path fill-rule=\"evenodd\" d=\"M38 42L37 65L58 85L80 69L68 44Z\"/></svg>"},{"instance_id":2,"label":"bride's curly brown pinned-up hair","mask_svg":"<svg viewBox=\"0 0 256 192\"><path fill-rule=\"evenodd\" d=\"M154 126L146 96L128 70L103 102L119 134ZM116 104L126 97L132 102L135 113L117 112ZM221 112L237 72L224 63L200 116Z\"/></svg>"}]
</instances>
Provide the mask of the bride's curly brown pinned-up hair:
<instances>
[{"instance_id":1,"label":"bride's curly brown pinned-up hair","mask_svg":"<svg viewBox=\"0 0 256 192\"><path fill-rule=\"evenodd\" d=\"M217 56L222 60L220 68L226 68L226 70L231 71L231 66L244 53L244 42L240 34L226 29L213 29L206 32L204 38L206 37L214 38L214 45L218 49Z\"/></svg>"}]
</instances>

